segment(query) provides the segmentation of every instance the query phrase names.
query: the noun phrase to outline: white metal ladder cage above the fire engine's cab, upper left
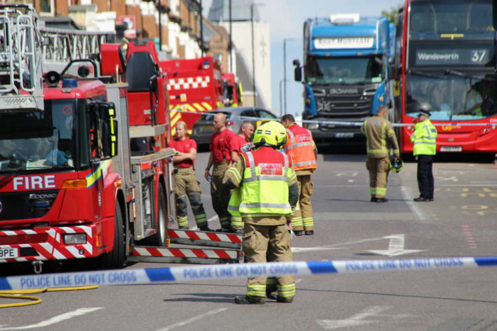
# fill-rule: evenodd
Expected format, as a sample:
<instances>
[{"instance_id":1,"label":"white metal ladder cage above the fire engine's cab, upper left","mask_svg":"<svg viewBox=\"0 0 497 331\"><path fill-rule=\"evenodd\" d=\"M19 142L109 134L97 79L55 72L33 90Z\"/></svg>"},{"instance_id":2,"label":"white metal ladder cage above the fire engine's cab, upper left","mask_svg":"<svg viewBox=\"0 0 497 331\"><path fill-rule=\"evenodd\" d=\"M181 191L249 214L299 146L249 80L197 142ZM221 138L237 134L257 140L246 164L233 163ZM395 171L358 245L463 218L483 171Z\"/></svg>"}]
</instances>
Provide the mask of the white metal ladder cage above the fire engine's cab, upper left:
<instances>
[{"instance_id":1,"label":"white metal ladder cage above the fire engine's cab, upper left","mask_svg":"<svg viewBox=\"0 0 497 331\"><path fill-rule=\"evenodd\" d=\"M37 20L31 6L0 6L0 110L43 110Z\"/></svg>"}]
</instances>

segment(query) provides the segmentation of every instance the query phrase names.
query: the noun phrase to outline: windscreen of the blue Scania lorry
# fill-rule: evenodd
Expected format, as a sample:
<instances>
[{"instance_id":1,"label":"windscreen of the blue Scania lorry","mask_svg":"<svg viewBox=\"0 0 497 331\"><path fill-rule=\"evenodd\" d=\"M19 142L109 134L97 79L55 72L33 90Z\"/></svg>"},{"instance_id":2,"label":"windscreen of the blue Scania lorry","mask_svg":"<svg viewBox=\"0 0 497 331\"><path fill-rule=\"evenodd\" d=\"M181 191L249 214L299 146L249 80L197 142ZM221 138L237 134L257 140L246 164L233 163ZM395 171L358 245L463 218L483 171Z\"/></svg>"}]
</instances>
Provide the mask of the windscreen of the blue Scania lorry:
<instances>
[{"instance_id":1,"label":"windscreen of the blue Scania lorry","mask_svg":"<svg viewBox=\"0 0 497 331\"><path fill-rule=\"evenodd\" d=\"M380 58L308 58L307 82L310 85L369 84L382 80Z\"/></svg>"}]
</instances>

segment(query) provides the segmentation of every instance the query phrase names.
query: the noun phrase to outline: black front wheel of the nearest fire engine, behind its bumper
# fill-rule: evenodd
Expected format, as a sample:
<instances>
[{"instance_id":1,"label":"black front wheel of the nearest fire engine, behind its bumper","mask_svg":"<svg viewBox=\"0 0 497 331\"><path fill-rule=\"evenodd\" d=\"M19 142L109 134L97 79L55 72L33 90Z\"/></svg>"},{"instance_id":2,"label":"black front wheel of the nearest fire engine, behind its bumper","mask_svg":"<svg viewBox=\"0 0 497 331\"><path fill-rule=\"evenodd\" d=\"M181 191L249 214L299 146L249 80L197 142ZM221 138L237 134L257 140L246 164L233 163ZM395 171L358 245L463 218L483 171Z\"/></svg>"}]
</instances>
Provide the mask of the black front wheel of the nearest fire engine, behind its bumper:
<instances>
[{"instance_id":1,"label":"black front wheel of the nearest fire engine, behind its bumper","mask_svg":"<svg viewBox=\"0 0 497 331\"><path fill-rule=\"evenodd\" d=\"M126 264L126 238L125 225L119 205L116 205L116 215L114 216L114 246L112 251L100 256L100 266L106 269L121 268Z\"/></svg>"}]
</instances>

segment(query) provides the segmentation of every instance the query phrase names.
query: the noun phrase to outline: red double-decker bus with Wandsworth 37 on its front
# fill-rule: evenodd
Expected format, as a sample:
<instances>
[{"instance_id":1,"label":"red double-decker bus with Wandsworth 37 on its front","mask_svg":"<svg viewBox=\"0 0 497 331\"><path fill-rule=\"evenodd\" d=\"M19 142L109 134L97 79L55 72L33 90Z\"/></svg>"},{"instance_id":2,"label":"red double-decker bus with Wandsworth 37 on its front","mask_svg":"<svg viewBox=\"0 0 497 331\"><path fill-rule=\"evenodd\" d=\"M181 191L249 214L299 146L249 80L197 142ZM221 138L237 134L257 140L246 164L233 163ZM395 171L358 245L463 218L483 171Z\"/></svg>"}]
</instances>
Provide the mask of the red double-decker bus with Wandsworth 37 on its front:
<instances>
[{"instance_id":1,"label":"red double-decker bus with Wandsworth 37 on its front","mask_svg":"<svg viewBox=\"0 0 497 331\"><path fill-rule=\"evenodd\" d=\"M495 0L406 0L399 10L395 121L403 153L428 103L439 152L497 152ZM400 84L399 84L400 83Z\"/></svg>"}]
</instances>

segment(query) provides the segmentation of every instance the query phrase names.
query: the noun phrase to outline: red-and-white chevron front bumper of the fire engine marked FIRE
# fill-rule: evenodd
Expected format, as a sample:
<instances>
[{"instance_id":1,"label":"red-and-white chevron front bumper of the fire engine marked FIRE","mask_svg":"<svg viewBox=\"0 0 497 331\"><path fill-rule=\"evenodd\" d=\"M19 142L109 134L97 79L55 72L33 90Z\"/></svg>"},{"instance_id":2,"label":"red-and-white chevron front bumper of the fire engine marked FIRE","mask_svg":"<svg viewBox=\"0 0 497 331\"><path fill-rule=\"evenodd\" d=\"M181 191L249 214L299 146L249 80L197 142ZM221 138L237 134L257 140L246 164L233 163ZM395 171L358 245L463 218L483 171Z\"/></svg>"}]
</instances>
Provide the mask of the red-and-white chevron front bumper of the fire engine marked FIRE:
<instances>
[{"instance_id":1,"label":"red-and-white chevron front bumper of the fire engine marked FIRE","mask_svg":"<svg viewBox=\"0 0 497 331\"><path fill-rule=\"evenodd\" d=\"M66 233L85 233L86 244L65 245L63 235ZM93 238L92 227L86 225L0 231L0 249L33 248L38 253L35 256L0 259L0 263L89 258L93 256Z\"/></svg>"}]
</instances>

